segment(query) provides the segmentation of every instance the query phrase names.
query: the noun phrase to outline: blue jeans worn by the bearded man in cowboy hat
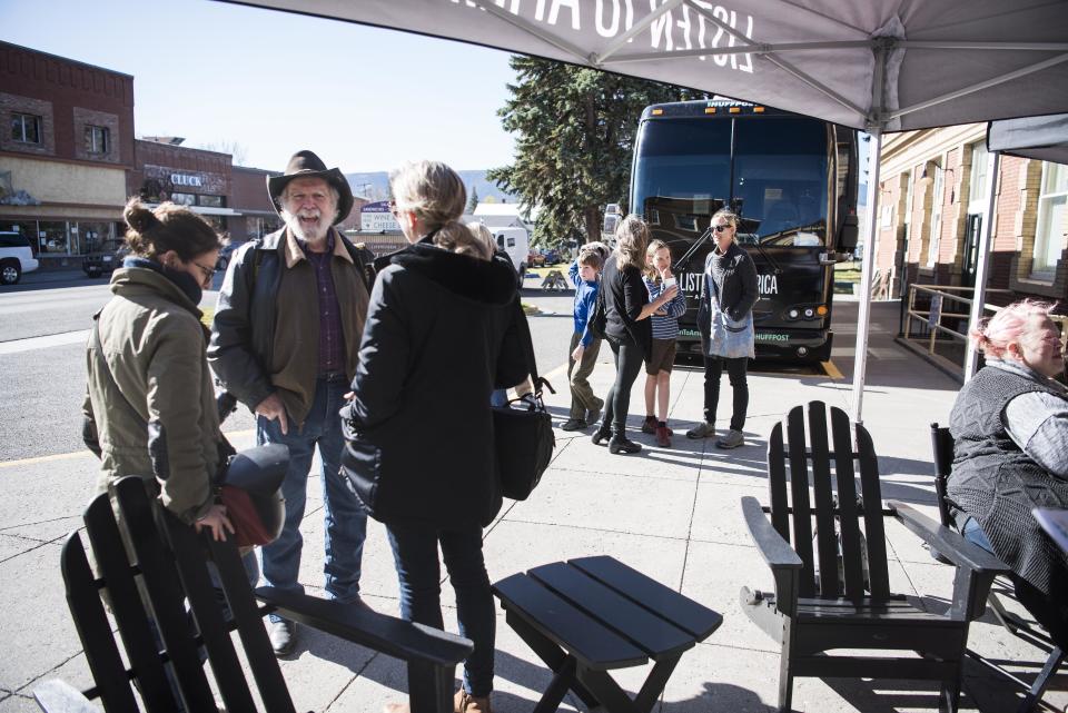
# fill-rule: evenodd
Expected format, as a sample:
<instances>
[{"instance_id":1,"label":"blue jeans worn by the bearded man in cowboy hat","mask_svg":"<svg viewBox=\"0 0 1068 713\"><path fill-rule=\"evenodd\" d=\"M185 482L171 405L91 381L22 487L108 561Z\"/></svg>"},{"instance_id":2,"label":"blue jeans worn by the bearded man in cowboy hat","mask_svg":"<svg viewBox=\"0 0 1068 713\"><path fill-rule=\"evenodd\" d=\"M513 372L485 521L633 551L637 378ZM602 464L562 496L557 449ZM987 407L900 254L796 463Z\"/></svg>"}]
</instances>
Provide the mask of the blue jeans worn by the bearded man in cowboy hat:
<instances>
[{"instance_id":1,"label":"blue jeans worn by the bearded man in cowboy hat","mask_svg":"<svg viewBox=\"0 0 1068 713\"><path fill-rule=\"evenodd\" d=\"M304 427L298 428L290 420L288 435L283 435L277 420L268 420L263 416L256 418L257 443L289 446L289 469L281 484L281 494L286 498L286 524L278 539L260 548L264 581L279 590L304 592L304 586L297 581L300 551L304 547L300 522L307 501L312 456L318 446L323 461L325 588L330 598L342 602L359 600L359 568L367 532L367 514L340 475L345 438L337 412L346 403L345 394L348 390L348 380L344 376L317 379L315 400ZM271 615L271 620L277 621L277 617Z\"/></svg>"}]
</instances>

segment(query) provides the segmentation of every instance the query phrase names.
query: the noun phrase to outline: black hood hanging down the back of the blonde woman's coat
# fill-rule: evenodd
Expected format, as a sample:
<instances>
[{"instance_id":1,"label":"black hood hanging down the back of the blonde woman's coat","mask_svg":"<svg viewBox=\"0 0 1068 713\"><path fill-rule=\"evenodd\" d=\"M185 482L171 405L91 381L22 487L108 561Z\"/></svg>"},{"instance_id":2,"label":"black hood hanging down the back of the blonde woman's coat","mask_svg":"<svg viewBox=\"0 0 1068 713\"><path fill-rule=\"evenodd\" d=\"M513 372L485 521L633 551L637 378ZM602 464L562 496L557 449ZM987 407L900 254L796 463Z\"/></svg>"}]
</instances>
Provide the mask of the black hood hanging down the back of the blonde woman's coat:
<instances>
[{"instance_id":1,"label":"black hood hanging down the back of the blonde woman's coat","mask_svg":"<svg viewBox=\"0 0 1068 713\"><path fill-rule=\"evenodd\" d=\"M375 267L380 263L412 270L459 297L487 305L507 305L515 299L518 289L511 261L496 256L483 260L436 245L416 242L375 260Z\"/></svg>"}]
</instances>

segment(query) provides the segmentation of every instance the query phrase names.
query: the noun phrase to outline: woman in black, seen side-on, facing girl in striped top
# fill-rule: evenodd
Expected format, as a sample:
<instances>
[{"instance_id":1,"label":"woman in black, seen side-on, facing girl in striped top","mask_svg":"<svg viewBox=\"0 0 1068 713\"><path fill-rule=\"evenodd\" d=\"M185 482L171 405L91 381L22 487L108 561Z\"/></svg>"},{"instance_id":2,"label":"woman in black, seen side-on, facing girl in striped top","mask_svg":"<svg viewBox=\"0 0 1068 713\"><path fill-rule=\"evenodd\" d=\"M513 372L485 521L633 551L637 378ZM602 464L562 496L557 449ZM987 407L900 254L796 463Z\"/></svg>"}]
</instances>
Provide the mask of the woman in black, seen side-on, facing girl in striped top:
<instances>
[{"instance_id":1,"label":"woman in black, seen side-on, facing girl in striped top","mask_svg":"<svg viewBox=\"0 0 1068 713\"><path fill-rule=\"evenodd\" d=\"M615 230L615 250L604 265L601 289L607 324L605 340L615 360L615 383L604 400L604 420L593 434L593 443L609 444L609 453L637 453L642 446L626 437L626 413L631 403L631 387L642 364L651 356L653 334L649 317L671 301L678 285L665 287L656 299L649 301L649 290L642 280L645 269L645 246L649 227L637 216L630 215Z\"/></svg>"}]
</instances>

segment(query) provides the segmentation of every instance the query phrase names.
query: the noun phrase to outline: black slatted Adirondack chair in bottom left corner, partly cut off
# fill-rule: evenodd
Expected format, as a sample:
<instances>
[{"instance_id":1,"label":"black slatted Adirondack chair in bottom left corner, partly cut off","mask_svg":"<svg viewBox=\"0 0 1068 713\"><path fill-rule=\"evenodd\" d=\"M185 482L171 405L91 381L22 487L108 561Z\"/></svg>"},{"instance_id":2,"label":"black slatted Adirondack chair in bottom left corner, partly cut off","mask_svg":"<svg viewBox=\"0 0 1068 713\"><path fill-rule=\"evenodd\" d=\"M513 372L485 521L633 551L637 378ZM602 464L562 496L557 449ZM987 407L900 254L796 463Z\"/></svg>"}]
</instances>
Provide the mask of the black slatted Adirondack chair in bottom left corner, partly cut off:
<instances>
[{"instance_id":1,"label":"black slatted Adirondack chair in bottom left corner, partly cut off","mask_svg":"<svg viewBox=\"0 0 1068 713\"><path fill-rule=\"evenodd\" d=\"M233 543L195 534L148 496L140 478L119 481L111 495L121 522L116 519L108 494L95 498L85 513L86 533L101 577L90 568L78 532L67 538L61 556L67 602L96 685L79 693L60 682L48 682L34 691L44 711L93 711L96 706L88 701L99 699L108 713L135 713L141 710L138 700L149 713L171 713L177 710L175 686L186 711L214 713L217 704L201 663L202 647L228 713L253 713L257 710L253 691L230 636L236 630L263 710L294 713L263 624L261 617L271 611L407 662L414 712L453 710L456 663L471 652L471 641L363 606L270 587L257 590L254 596ZM212 585L209 558L217 567L230 617ZM105 588L118 637L105 614ZM259 605L257 596L266 605ZM157 644L150 616L161 644ZM129 669L120 657L119 644Z\"/></svg>"}]
</instances>

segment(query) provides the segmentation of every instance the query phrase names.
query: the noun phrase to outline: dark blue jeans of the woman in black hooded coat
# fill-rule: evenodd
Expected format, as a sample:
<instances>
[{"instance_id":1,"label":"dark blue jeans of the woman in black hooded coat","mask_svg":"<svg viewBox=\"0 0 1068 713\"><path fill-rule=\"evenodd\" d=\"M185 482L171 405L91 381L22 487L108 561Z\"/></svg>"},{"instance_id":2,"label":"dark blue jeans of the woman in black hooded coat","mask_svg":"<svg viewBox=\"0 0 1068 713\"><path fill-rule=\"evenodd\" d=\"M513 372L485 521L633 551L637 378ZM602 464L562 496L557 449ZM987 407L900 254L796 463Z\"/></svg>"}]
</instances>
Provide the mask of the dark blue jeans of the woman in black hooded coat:
<instances>
[{"instance_id":1,"label":"dark blue jeans of the woman in black hooded coat","mask_svg":"<svg viewBox=\"0 0 1068 713\"><path fill-rule=\"evenodd\" d=\"M436 529L429 525L386 525L400 582L400 618L445 628L442 621L442 573L437 545L456 591L459 634L475 648L464 662L464 689L471 695L493 691L493 653L497 620L490 575L482 557L482 528Z\"/></svg>"}]
</instances>

